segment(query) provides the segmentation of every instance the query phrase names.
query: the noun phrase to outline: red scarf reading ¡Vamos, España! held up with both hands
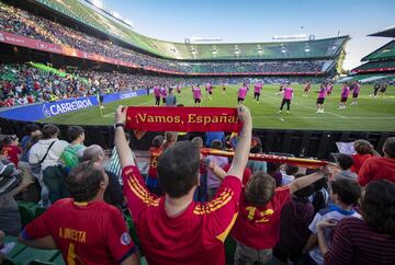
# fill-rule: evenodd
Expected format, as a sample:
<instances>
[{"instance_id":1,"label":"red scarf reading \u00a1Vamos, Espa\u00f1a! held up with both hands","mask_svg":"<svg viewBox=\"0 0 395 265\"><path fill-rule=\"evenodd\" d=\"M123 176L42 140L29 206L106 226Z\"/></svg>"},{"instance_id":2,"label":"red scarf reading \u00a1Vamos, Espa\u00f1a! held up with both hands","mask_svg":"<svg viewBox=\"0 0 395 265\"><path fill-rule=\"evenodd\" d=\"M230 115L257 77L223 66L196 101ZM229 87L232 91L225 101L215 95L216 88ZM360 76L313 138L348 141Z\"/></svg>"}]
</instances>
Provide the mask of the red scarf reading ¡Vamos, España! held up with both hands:
<instances>
[{"instance_id":1,"label":"red scarf reading \u00a1Vamos, Espa\u00f1a! held up with both hands","mask_svg":"<svg viewBox=\"0 0 395 265\"><path fill-rule=\"evenodd\" d=\"M239 131L237 108L127 107L126 127L147 131Z\"/></svg>"}]
</instances>

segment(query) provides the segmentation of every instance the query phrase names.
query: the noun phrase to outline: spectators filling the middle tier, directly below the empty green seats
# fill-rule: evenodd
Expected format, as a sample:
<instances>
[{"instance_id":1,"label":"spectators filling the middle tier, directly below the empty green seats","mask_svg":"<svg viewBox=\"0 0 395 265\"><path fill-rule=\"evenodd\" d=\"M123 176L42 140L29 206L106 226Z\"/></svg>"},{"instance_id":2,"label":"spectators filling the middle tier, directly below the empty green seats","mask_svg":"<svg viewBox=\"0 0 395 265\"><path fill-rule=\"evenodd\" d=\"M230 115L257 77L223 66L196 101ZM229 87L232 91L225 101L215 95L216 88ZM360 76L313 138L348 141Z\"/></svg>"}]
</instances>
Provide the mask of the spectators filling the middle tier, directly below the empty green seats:
<instances>
[{"instance_id":1,"label":"spectators filling the middle tier, directly below the empty green seats","mask_svg":"<svg viewBox=\"0 0 395 265\"><path fill-rule=\"evenodd\" d=\"M321 72L330 60L300 61L238 61L238 62L191 62L161 59L137 53L131 48L116 45L108 39L101 39L71 27L36 16L22 9L0 2L0 31L58 44L81 51L133 62L142 68L177 71L180 73L198 72Z\"/></svg>"}]
</instances>

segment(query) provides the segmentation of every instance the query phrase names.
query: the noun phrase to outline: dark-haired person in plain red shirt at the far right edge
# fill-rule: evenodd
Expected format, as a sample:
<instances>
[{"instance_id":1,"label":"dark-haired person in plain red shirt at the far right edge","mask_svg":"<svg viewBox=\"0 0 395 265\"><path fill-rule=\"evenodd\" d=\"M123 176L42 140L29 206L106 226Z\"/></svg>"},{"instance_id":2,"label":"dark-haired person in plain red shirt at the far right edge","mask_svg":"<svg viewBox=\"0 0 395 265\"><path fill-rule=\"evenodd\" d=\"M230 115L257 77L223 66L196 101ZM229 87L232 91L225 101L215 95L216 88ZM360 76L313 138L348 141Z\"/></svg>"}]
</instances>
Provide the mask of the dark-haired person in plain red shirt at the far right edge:
<instances>
[{"instance_id":1,"label":"dark-haired person in plain red shirt at the far right edge","mask_svg":"<svg viewBox=\"0 0 395 265\"><path fill-rule=\"evenodd\" d=\"M384 158L368 159L362 165L358 177L361 186L379 180L395 183L395 137L385 140L383 152Z\"/></svg>"}]
</instances>

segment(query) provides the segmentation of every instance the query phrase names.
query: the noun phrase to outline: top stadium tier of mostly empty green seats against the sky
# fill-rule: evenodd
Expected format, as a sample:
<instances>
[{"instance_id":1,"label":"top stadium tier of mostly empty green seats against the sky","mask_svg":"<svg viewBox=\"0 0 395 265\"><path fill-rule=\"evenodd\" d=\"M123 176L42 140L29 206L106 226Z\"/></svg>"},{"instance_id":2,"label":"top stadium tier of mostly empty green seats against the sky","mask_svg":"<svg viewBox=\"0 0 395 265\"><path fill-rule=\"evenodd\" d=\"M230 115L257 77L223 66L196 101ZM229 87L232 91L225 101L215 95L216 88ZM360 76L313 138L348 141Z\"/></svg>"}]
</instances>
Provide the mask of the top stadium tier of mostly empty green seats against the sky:
<instances>
[{"instance_id":1,"label":"top stadium tier of mostly empty green seats against the sky","mask_svg":"<svg viewBox=\"0 0 395 265\"><path fill-rule=\"evenodd\" d=\"M180 60L308 59L335 58L349 36L317 41L233 44L188 44L144 36L80 0L34 0L98 31L150 54Z\"/></svg>"}]
</instances>

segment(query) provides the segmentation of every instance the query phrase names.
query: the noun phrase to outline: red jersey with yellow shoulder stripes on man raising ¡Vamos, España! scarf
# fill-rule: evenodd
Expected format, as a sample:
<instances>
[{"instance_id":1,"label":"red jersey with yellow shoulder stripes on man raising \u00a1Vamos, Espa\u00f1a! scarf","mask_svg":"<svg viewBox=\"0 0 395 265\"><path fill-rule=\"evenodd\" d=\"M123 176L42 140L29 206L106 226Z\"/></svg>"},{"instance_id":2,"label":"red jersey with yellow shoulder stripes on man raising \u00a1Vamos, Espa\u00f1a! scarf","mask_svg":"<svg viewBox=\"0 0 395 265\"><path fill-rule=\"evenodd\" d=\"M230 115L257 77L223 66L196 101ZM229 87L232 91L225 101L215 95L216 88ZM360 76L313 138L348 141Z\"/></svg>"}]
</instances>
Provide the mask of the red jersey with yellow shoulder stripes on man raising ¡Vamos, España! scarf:
<instances>
[{"instance_id":1,"label":"red jersey with yellow shoulder stripes on man raising \u00a1Vamos, Espa\u00f1a! scarf","mask_svg":"<svg viewBox=\"0 0 395 265\"><path fill-rule=\"evenodd\" d=\"M210 203L192 201L169 217L165 197L151 195L136 166L123 171L124 194L148 264L225 264L224 241L238 210L241 182L226 176Z\"/></svg>"}]
</instances>

